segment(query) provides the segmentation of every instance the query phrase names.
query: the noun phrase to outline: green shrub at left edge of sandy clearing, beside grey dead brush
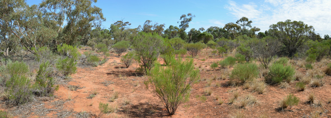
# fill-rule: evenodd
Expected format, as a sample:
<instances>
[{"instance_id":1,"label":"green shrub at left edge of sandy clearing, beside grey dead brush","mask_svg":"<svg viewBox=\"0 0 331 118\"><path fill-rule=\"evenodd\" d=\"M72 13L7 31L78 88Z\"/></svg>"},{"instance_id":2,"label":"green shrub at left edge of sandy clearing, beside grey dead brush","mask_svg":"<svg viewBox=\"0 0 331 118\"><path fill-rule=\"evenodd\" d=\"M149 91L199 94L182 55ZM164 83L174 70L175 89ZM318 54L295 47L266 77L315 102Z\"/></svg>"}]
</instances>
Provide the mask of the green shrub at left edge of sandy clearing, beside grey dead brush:
<instances>
[{"instance_id":1,"label":"green shrub at left edge of sandy clearing, beside grey dead brush","mask_svg":"<svg viewBox=\"0 0 331 118\"><path fill-rule=\"evenodd\" d=\"M64 76L68 76L73 73L76 73L76 69L77 69L76 65L77 62L74 59L66 57L66 58L58 59L56 63L56 68L61 70Z\"/></svg>"}]
</instances>

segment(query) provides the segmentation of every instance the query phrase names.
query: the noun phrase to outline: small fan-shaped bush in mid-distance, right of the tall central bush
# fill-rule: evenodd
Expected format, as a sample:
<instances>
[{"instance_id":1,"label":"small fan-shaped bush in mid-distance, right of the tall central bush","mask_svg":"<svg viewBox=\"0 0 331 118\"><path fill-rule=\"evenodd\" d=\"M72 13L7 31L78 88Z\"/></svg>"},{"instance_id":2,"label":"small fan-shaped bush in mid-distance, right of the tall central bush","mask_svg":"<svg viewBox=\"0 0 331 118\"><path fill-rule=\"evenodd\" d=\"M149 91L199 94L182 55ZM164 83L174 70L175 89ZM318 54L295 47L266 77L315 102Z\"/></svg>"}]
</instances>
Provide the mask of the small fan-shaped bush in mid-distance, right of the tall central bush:
<instances>
[{"instance_id":1,"label":"small fan-shaped bush in mid-distance, right of the tall central bush","mask_svg":"<svg viewBox=\"0 0 331 118\"><path fill-rule=\"evenodd\" d=\"M206 44L200 42L189 43L189 44L185 44L184 47L192 57L195 57L201 52L202 49L206 47Z\"/></svg>"}]
</instances>

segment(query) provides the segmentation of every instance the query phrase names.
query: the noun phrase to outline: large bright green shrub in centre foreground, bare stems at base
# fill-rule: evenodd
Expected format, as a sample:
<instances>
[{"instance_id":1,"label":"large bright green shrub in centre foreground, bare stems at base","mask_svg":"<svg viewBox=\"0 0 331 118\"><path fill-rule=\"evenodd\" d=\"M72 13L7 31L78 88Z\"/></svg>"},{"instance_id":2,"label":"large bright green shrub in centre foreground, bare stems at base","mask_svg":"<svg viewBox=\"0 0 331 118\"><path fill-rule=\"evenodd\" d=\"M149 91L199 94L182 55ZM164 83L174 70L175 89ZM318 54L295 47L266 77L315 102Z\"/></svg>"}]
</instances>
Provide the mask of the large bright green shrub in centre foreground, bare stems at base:
<instances>
[{"instance_id":1,"label":"large bright green shrub in centre foreground, bare stems at base","mask_svg":"<svg viewBox=\"0 0 331 118\"><path fill-rule=\"evenodd\" d=\"M164 68L156 64L148 73L153 92L170 115L176 112L180 104L188 101L191 85L199 80L199 71L194 70L193 59L185 62L171 59L170 66Z\"/></svg>"}]
</instances>

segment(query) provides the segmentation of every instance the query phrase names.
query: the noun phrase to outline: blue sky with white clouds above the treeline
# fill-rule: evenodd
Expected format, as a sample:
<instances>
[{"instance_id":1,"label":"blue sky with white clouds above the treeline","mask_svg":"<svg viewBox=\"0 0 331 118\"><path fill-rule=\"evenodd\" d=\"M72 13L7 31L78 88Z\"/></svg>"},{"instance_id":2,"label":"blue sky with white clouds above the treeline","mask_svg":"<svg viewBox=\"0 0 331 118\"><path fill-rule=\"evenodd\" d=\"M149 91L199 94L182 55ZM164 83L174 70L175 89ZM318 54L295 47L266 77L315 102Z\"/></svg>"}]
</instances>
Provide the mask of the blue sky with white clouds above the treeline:
<instances>
[{"instance_id":1,"label":"blue sky with white clouds above the treeline","mask_svg":"<svg viewBox=\"0 0 331 118\"><path fill-rule=\"evenodd\" d=\"M26 0L29 5L41 0ZM315 28L322 37L331 35L330 0L98 0L95 6L102 9L106 21L104 28L121 20L131 23L131 28L143 25L146 20L159 24L179 26L182 14L192 13L196 17L189 29L223 27L245 16L253 21L252 26L260 32L271 24L286 19L301 20Z\"/></svg>"}]
</instances>

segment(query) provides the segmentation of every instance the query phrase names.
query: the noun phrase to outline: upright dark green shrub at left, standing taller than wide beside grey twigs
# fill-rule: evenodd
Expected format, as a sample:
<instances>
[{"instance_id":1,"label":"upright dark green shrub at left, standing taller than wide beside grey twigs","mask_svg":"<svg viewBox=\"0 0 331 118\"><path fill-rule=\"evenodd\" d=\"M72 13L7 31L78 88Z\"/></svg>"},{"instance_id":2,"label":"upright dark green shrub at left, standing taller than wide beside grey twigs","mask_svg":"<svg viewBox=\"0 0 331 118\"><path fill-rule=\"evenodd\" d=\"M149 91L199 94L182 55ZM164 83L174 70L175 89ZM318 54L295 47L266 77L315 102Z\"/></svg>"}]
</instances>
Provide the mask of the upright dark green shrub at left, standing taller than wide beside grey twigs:
<instances>
[{"instance_id":1,"label":"upright dark green shrub at left, standing taller than wide beside grey twigs","mask_svg":"<svg viewBox=\"0 0 331 118\"><path fill-rule=\"evenodd\" d=\"M46 61L41 63L37 71L35 87L37 91L34 91L35 94L39 96L52 96L54 90L57 90L59 86L54 86L55 78L52 77L54 72L53 65Z\"/></svg>"}]
</instances>

